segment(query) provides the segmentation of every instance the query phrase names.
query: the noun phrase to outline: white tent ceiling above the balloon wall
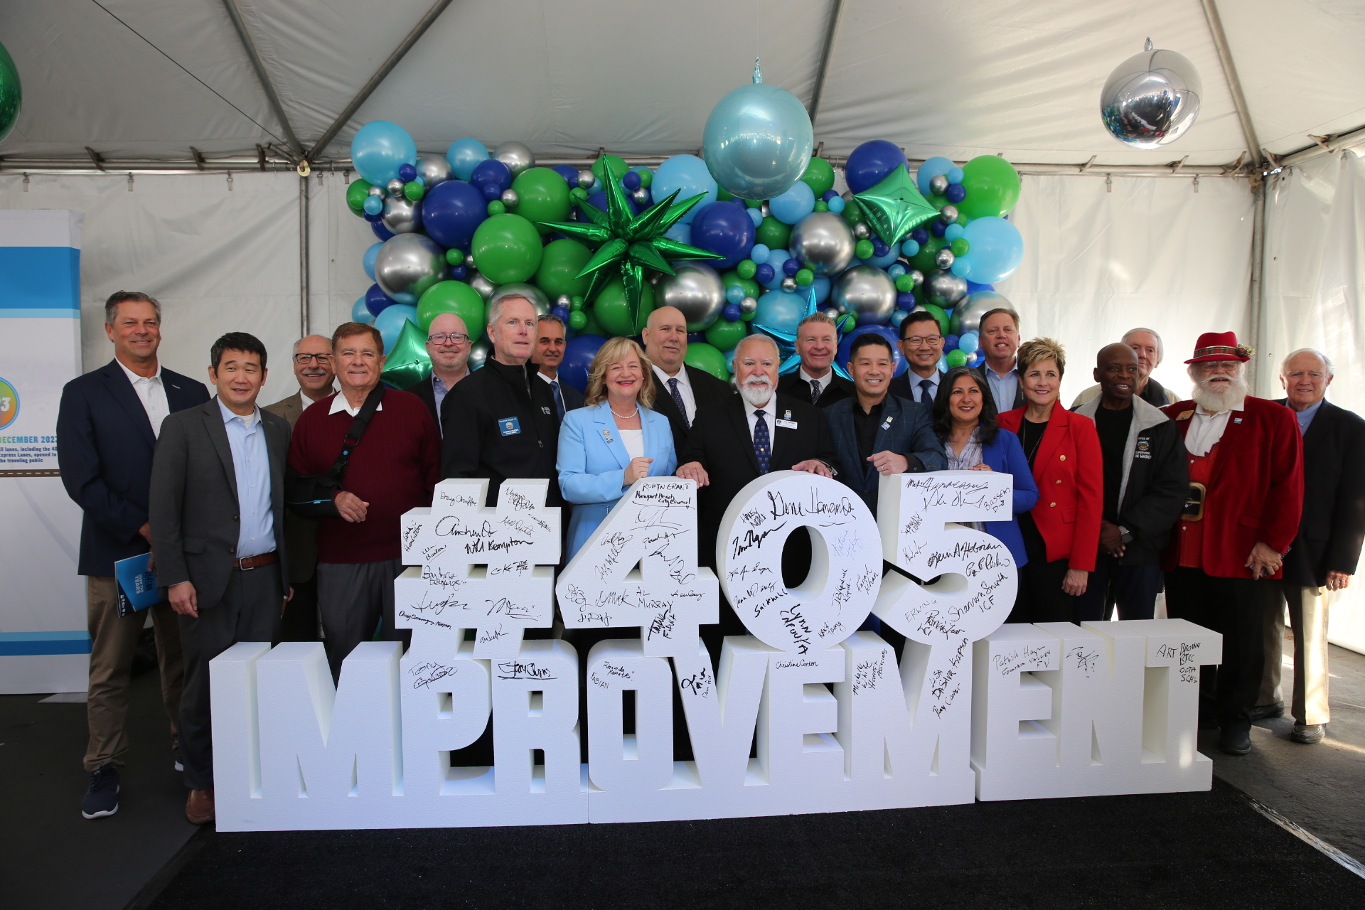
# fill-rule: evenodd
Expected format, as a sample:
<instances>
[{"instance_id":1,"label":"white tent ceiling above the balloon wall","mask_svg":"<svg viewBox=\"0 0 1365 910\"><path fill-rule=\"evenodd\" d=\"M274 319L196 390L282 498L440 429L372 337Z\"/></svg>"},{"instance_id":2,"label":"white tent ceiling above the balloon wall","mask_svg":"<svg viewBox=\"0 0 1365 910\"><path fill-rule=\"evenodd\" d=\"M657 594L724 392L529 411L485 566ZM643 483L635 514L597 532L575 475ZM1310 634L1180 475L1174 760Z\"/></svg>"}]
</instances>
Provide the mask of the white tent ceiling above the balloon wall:
<instances>
[{"instance_id":1,"label":"white tent ceiling above the balloon wall","mask_svg":"<svg viewBox=\"0 0 1365 910\"><path fill-rule=\"evenodd\" d=\"M431 8L236 3L306 149ZM460 136L520 139L542 157L691 151L753 56L766 82L809 101L837 5L815 121L829 154L885 138L912 158L1222 165L1248 147L1198 0L455 0L313 157L345 158L373 119L403 124L427 151ZM1220 11L1263 147L1283 156L1365 121L1365 4L1223 0ZM1104 132L1099 94L1147 37L1194 63L1204 97L1188 135L1138 151ZM287 145L222 0L10 0L0 42L25 91L4 169L89 161L87 146L116 168L183 161L191 146L214 158Z\"/></svg>"}]
</instances>

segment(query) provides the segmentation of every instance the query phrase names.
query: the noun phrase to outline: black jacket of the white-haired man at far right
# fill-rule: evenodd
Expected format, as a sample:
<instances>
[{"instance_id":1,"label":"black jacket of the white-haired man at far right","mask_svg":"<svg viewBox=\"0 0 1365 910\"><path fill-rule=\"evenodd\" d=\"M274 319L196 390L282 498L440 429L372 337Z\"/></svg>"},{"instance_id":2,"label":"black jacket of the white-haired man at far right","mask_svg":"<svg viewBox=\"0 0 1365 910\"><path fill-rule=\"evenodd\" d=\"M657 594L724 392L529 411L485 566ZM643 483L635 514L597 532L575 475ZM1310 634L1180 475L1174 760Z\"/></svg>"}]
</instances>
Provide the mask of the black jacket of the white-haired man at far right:
<instances>
[{"instance_id":1,"label":"black jacket of the white-haired man at far right","mask_svg":"<svg viewBox=\"0 0 1365 910\"><path fill-rule=\"evenodd\" d=\"M1304 434L1304 516L1284 557L1286 581L1320 588L1328 570L1355 574L1365 540L1362 468L1365 420L1324 400Z\"/></svg>"}]
</instances>

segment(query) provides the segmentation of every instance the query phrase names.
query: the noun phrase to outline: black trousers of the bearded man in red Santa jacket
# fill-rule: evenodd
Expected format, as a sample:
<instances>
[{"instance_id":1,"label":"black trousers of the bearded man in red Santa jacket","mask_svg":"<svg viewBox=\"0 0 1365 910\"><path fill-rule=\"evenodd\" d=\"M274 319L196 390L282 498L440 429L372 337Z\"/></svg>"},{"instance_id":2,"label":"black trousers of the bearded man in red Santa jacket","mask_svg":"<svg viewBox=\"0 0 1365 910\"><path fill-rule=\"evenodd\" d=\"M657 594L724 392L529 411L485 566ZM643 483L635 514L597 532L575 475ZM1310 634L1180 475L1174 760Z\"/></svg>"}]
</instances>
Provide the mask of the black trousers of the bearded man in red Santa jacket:
<instances>
[{"instance_id":1,"label":"black trousers of the bearded man in red Santa jacket","mask_svg":"<svg viewBox=\"0 0 1365 910\"><path fill-rule=\"evenodd\" d=\"M1185 566L1166 573L1166 615L1223 636L1223 663L1200 671L1200 707L1212 708L1226 730L1252 727L1265 669L1265 600L1278 593L1269 580L1218 578Z\"/></svg>"}]
</instances>

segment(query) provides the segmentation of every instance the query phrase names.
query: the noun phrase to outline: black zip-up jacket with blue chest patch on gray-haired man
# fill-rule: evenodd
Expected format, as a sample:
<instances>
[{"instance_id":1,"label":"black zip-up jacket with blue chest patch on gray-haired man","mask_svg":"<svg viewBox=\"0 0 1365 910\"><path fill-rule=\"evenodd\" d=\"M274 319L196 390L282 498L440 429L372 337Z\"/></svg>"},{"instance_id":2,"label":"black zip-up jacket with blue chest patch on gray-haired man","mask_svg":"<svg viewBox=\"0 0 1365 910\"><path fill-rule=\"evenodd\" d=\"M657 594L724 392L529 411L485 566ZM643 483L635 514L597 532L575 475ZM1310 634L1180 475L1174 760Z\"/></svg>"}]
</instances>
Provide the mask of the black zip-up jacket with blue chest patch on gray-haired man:
<instances>
[{"instance_id":1,"label":"black zip-up jacket with blue chest patch on gray-haired man","mask_svg":"<svg viewBox=\"0 0 1365 910\"><path fill-rule=\"evenodd\" d=\"M446 393L442 411L442 478L487 478L487 505L508 478L549 478L547 506L562 506L554 463L560 419L536 366L511 367L489 357Z\"/></svg>"}]
</instances>

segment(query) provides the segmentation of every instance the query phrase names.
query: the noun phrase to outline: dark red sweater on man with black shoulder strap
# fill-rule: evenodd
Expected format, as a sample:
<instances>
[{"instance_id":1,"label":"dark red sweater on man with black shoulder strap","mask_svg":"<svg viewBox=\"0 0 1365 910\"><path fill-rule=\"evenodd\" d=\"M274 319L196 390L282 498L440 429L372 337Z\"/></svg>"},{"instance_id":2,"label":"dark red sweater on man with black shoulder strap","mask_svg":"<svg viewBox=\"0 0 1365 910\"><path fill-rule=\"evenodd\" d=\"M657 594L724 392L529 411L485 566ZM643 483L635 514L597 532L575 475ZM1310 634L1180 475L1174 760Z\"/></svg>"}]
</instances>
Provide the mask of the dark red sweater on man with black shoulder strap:
<instances>
[{"instance_id":1,"label":"dark red sweater on man with black shoulder strap","mask_svg":"<svg viewBox=\"0 0 1365 910\"><path fill-rule=\"evenodd\" d=\"M311 404L293 426L289 467L299 473L326 473L341 454L341 442L355 417L345 411L328 413L334 397ZM441 437L422 398L385 390L360 445L351 452L343 484L370 503L366 518L356 524L321 518L318 562L397 559L400 516L431 505L440 463Z\"/></svg>"}]
</instances>

